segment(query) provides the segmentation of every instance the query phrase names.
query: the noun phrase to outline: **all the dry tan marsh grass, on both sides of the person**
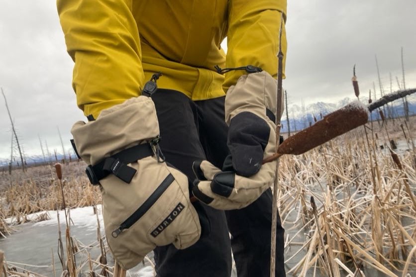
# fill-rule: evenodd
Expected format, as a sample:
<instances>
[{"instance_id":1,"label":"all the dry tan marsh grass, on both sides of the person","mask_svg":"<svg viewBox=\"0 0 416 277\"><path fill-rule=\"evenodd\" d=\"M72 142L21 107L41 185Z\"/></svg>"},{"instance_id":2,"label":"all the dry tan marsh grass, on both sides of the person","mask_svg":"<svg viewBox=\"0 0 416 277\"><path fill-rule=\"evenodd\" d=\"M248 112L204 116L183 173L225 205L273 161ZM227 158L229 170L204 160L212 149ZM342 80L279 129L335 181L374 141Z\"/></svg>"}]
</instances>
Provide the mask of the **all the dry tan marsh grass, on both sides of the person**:
<instances>
[{"instance_id":1,"label":"all the dry tan marsh grass, on both sides of the person","mask_svg":"<svg viewBox=\"0 0 416 277\"><path fill-rule=\"evenodd\" d=\"M366 129L360 127L306 154L281 158L278 204L287 231L288 275L355 277L364 276L364 268L373 268L387 276L405 277L416 269L416 153L412 143L416 118L412 120L407 126L403 121L390 121L387 128L377 122L367 124ZM392 155L389 139L401 141L407 150ZM74 162L63 168L67 207L101 203L100 191L89 184L84 167ZM25 174L16 171L11 178L2 175L2 234L12 231L6 217L24 222L29 213L62 208L58 181L53 167L32 168ZM311 204L312 196L316 205ZM101 255L83 262L73 261L80 253L89 255L91 247L81 245L69 231L63 241L67 242L67 259L74 257L69 261L75 268L66 271L68 276L120 273L107 264L100 232L95 247Z\"/></svg>"}]
</instances>

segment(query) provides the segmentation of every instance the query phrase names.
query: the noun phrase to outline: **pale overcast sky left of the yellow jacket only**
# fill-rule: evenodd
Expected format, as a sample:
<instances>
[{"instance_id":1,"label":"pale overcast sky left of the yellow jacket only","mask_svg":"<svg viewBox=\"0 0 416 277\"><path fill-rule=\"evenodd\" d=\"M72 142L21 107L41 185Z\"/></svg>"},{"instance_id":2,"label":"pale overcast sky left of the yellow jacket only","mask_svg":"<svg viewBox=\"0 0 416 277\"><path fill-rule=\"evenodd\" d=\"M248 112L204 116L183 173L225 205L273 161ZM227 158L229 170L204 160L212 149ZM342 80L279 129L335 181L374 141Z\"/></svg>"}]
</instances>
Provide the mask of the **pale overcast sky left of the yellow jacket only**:
<instances>
[{"instance_id":1,"label":"pale overcast sky left of the yellow jacket only","mask_svg":"<svg viewBox=\"0 0 416 277\"><path fill-rule=\"evenodd\" d=\"M0 86L26 154L40 154L38 135L62 152L69 130L82 119L71 88L73 62L66 54L55 1L6 1L0 10ZM0 158L10 156L11 127L0 98ZM16 153L17 154L17 153Z\"/></svg>"}]
</instances>

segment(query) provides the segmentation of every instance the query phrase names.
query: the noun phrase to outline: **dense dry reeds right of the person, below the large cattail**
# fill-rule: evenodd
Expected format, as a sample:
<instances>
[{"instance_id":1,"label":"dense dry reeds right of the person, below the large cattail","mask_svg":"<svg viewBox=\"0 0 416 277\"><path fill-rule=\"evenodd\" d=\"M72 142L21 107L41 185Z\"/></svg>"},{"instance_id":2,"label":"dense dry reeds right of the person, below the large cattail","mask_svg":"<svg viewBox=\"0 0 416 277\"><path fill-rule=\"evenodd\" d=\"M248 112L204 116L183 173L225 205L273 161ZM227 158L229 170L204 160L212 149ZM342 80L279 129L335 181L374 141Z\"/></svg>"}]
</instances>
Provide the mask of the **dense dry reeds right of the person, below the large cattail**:
<instances>
[{"instance_id":1,"label":"dense dry reeds right of the person, below the large cattail","mask_svg":"<svg viewBox=\"0 0 416 277\"><path fill-rule=\"evenodd\" d=\"M400 125L389 124L390 139L404 140ZM379 138L387 137L384 127L373 126L381 130ZM367 133L372 137L371 129ZM290 234L305 227L288 236L292 255L286 262L299 261L290 263L288 273L306 276L317 270L353 277L372 267L387 276L406 276L416 268L415 153L410 147L391 155L389 144L387 138L368 143L360 127L305 155L281 158L283 224Z\"/></svg>"}]
</instances>

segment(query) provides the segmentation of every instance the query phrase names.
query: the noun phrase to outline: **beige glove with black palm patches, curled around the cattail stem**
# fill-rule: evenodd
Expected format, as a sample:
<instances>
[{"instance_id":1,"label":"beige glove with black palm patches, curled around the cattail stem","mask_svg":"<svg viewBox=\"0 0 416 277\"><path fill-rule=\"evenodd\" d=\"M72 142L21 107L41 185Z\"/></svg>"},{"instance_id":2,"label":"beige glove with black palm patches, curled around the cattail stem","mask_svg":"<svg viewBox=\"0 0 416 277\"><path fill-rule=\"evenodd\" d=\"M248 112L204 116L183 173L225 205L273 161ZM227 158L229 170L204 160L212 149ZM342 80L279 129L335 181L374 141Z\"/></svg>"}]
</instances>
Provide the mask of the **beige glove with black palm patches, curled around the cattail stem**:
<instances>
[{"instance_id":1,"label":"beige glove with black palm patches, curled around the cattail stem","mask_svg":"<svg viewBox=\"0 0 416 277\"><path fill-rule=\"evenodd\" d=\"M243 75L230 87L225 96L230 155L222 170L208 161L194 163L198 199L214 208L238 209L273 184L276 161L262 165L262 160L275 153L276 95L277 81L265 71Z\"/></svg>"}]
</instances>

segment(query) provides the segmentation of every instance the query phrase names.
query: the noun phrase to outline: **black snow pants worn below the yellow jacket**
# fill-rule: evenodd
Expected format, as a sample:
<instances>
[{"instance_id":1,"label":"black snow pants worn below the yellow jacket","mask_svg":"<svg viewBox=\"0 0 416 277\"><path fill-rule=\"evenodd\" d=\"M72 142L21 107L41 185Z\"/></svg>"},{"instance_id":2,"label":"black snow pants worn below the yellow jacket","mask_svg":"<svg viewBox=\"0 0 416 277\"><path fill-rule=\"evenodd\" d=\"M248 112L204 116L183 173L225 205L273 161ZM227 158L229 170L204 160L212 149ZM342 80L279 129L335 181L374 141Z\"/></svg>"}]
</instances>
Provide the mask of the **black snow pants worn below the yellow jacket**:
<instances>
[{"instance_id":1,"label":"black snow pants worn below the yellow jacket","mask_svg":"<svg viewBox=\"0 0 416 277\"><path fill-rule=\"evenodd\" d=\"M166 161L191 180L195 179L192 164L196 160L208 160L221 168L228 154L225 97L192 101L181 92L163 89L151 97ZM184 250L173 245L157 247L157 276L229 277L231 248L238 277L270 276L271 190L243 209L224 212L207 205L203 208L210 221L209 235ZM276 277L283 277L284 229L279 215L276 243Z\"/></svg>"}]
</instances>

